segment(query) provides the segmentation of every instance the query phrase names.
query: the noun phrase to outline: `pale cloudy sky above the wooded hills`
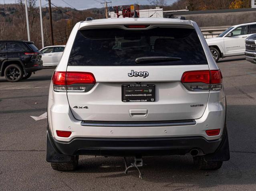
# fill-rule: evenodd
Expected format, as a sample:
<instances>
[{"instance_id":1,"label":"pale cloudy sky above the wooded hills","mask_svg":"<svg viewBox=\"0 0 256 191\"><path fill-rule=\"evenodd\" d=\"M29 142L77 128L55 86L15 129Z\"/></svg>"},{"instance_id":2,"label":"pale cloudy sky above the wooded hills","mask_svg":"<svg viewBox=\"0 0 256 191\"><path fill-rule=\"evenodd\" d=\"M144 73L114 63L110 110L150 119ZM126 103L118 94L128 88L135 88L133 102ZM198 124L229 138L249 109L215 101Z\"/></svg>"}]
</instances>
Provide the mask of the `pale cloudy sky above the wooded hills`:
<instances>
[{"instance_id":1,"label":"pale cloudy sky above the wooded hills","mask_svg":"<svg viewBox=\"0 0 256 191\"><path fill-rule=\"evenodd\" d=\"M16 3L18 1L19 0L0 0L0 4ZM38 5L38 1L39 0L37 0L37 5ZM147 0L107 0L107 2L109 1L112 1L112 3L108 4L108 6L129 5L129 4L134 4L136 2L141 5L149 4ZM167 5L170 5L175 1L177 0L166 0ZM42 6L45 4L48 4L48 1L46 0L41 0L41 2L42 2ZM104 0L51 0L51 2L58 6L73 7L79 10L83 10L83 9L94 8L94 7L101 8L104 6L104 4L101 4L101 2L105 2L105 1Z\"/></svg>"}]
</instances>

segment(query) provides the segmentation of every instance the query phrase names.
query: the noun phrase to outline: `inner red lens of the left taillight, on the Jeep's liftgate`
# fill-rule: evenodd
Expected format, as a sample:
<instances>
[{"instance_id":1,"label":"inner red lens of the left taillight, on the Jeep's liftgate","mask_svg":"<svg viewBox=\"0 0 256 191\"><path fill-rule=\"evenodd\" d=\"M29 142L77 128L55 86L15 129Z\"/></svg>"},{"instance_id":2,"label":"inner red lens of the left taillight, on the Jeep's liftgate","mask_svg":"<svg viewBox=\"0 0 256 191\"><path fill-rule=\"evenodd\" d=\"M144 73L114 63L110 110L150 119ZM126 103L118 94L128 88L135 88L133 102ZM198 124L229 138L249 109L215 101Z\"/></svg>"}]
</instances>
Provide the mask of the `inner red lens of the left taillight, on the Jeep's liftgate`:
<instances>
[{"instance_id":1,"label":"inner red lens of the left taillight, on the Jeep's liftgate","mask_svg":"<svg viewBox=\"0 0 256 191\"><path fill-rule=\"evenodd\" d=\"M95 84L95 78L89 72L67 72L67 85Z\"/></svg>"}]
</instances>

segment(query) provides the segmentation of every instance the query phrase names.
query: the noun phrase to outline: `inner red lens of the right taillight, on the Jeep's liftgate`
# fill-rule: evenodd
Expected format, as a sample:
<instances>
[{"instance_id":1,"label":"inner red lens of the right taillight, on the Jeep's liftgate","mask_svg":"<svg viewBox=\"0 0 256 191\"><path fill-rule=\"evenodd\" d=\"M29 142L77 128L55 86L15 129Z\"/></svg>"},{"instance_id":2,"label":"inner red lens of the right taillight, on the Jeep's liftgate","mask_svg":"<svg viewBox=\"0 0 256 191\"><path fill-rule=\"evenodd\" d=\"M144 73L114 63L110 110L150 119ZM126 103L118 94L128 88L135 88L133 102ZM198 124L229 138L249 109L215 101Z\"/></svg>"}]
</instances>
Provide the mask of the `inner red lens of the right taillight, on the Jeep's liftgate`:
<instances>
[{"instance_id":1,"label":"inner red lens of the right taillight, on the Jeep's liftgate","mask_svg":"<svg viewBox=\"0 0 256 191\"><path fill-rule=\"evenodd\" d=\"M187 71L184 72L181 77L182 83L194 83L194 82L202 82L209 84L210 83L210 71L202 70L202 71Z\"/></svg>"}]
</instances>

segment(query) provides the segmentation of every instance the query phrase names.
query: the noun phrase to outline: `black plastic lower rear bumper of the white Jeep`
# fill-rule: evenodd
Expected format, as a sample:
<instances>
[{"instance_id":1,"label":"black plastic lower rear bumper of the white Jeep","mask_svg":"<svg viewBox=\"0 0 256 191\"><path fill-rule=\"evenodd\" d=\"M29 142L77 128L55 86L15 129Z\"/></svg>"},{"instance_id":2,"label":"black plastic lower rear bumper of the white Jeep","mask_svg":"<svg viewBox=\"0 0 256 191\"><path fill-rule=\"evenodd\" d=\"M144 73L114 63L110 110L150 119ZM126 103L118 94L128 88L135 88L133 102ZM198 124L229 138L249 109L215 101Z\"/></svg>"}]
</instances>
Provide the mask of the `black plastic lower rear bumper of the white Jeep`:
<instances>
[{"instance_id":1,"label":"black plastic lower rear bumper of the white Jeep","mask_svg":"<svg viewBox=\"0 0 256 191\"><path fill-rule=\"evenodd\" d=\"M184 155L198 149L201 155L214 153L222 142L204 137L177 138L74 138L70 142L58 141L48 135L56 152L65 155L93 156L162 156ZM49 147L47 146L47 149Z\"/></svg>"}]
</instances>

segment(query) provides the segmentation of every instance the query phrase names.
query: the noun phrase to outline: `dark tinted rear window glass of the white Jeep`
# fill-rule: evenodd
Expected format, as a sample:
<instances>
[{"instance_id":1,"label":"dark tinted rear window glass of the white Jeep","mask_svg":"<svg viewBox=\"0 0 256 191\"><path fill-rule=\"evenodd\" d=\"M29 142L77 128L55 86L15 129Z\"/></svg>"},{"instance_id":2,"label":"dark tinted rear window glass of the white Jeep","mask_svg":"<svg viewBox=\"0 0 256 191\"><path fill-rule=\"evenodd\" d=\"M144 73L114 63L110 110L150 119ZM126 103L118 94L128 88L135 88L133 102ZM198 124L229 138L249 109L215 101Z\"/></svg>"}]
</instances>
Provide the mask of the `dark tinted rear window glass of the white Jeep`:
<instances>
[{"instance_id":1,"label":"dark tinted rear window glass of the white Jeep","mask_svg":"<svg viewBox=\"0 0 256 191\"><path fill-rule=\"evenodd\" d=\"M109 28L78 31L68 64L130 66L138 65L135 59L140 57L181 58L143 65L207 64L204 49L194 29L159 27L150 30Z\"/></svg>"}]
</instances>

